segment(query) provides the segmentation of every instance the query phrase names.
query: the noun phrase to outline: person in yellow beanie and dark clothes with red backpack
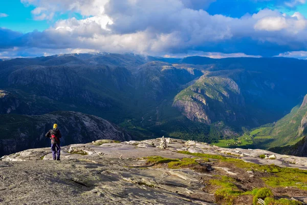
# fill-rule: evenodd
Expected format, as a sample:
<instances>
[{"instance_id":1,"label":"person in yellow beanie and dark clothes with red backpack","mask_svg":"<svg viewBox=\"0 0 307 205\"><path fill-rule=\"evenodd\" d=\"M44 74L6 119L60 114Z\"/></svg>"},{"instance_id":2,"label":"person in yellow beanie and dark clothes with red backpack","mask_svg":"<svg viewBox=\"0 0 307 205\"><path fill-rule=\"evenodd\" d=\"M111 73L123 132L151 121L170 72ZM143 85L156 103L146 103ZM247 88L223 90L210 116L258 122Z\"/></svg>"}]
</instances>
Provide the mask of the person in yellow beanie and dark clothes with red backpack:
<instances>
[{"instance_id":1,"label":"person in yellow beanie and dark clothes with red backpack","mask_svg":"<svg viewBox=\"0 0 307 205\"><path fill-rule=\"evenodd\" d=\"M61 132L57 129L57 124L53 125L53 129L49 130L46 137L51 139L51 150L53 160L60 160L61 148L60 138L62 137Z\"/></svg>"}]
</instances>

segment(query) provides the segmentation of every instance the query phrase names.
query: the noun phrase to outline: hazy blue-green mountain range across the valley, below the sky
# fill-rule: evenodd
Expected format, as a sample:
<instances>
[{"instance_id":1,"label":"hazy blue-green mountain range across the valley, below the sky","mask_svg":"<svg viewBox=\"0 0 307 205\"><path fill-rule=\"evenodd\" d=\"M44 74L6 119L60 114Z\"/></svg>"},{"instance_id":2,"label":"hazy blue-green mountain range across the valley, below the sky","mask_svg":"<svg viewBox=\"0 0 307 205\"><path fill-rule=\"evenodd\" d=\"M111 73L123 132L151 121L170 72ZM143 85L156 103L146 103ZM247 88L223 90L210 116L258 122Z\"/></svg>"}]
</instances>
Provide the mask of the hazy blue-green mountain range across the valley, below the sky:
<instances>
[{"instance_id":1,"label":"hazy blue-green mountain range across the valley, below the sky","mask_svg":"<svg viewBox=\"0 0 307 205\"><path fill-rule=\"evenodd\" d=\"M8 139L25 139L15 126L25 121L36 126L45 120L43 132L59 121L70 133L65 144L91 141L96 135L71 131L82 122L80 115L108 120L139 140L162 135L210 143L235 138L278 121L301 104L307 94L306 68L307 61L294 58L179 59L130 53L0 61L0 152L45 145L41 130L27 135L37 143L8 149ZM50 116L55 111L56 119ZM77 118L70 129L65 111ZM266 149L297 142L305 133L300 130L300 137L276 132L275 139L287 141L270 142Z\"/></svg>"}]
</instances>

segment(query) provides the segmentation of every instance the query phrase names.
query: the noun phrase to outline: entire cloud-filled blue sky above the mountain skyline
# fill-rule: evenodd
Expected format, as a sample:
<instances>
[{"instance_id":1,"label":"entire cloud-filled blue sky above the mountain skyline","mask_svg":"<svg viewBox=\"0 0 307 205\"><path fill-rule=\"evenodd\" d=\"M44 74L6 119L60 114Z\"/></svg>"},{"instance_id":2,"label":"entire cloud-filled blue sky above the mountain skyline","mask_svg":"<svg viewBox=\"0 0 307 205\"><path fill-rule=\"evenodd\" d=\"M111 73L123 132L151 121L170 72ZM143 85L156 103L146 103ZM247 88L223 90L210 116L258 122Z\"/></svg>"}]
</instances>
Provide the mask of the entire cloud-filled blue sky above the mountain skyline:
<instances>
[{"instance_id":1,"label":"entire cloud-filled blue sky above the mountain skyline","mask_svg":"<svg viewBox=\"0 0 307 205\"><path fill-rule=\"evenodd\" d=\"M306 0L0 0L0 58L307 58Z\"/></svg>"}]
</instances>

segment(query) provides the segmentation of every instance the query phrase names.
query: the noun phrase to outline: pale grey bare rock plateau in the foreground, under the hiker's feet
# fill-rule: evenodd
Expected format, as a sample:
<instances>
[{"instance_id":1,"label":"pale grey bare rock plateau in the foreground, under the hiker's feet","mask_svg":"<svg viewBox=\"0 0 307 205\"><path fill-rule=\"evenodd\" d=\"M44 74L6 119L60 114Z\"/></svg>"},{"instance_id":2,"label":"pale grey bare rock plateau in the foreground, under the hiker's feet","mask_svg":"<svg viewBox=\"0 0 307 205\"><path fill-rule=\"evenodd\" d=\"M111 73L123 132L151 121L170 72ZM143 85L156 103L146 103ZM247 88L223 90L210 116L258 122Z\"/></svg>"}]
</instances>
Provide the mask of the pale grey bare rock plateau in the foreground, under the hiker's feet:
<instances>
[{"instance_id":1,"label":"pale grey bare rock plateau in the foreground, under the hiker's feet","mask_svg":"<svg viewBox=\"0 0 307 205\"><path fill-rule=\"evenodd\" d=\"M253 204L250 191L265 186L262 178L274 176L275 171L262 169L307 166L307 158L265 150L224 149L179 139L171 139L171 146L161 150L157 148L160 141L161 138L121 143L96 140L64 146L61 161L52 160L49 148L4 156L0 158L0 201L7 205L84 204L84 201L89 205L225 204L227 198L217 194L219 188L224 188L217 182L229 180L221 184L235 187L235 193L249 191L235 195L232 203L247 205ZM262 159L259 155L274 155L274 159ZM274 165L254 169L255 163ZM299 181L292 187L272 190L276 198L289 196L307 202L304 197L307 192L297 188L304 183Z\"/></svg>"}]
</instances>

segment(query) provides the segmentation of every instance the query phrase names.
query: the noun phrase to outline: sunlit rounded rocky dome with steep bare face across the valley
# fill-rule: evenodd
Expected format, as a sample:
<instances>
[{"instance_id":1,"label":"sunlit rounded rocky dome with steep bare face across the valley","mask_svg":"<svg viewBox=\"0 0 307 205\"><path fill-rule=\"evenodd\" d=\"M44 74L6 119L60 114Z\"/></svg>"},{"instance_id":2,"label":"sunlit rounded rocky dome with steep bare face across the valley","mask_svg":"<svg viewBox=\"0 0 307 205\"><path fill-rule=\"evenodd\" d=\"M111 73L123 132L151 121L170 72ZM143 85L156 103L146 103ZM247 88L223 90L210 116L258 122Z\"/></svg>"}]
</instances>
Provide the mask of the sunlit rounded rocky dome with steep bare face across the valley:
<instances>
[{"instance_id":1,"label":"sunlit rounded rocky dome with steep bare face across the valley","mask_svg":"<svg viewBox=\"0 0 307 205\"><path fill-rule=\"evenodd\" d=\"M238 85L223 76L202 76L175 97L173 107L189 119L206 124L245 119L245 101Z\"/></svg>"}]
</instances>

